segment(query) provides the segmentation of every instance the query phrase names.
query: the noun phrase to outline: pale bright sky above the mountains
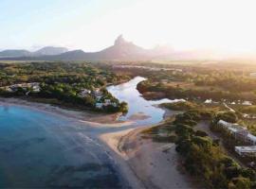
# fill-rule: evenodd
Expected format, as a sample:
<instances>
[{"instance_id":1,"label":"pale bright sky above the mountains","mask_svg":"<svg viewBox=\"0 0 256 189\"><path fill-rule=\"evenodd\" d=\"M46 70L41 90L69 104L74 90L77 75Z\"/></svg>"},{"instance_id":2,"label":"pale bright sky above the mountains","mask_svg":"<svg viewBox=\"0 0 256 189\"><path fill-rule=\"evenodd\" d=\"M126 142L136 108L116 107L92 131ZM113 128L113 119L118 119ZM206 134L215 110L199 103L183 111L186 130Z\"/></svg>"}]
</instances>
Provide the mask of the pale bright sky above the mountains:
<instances>
[{"instance_id":1,"label":"pale bright sky above the mountains","mask_svg":"<svg viewBox=\"0 0 256 189\"><path fill-rule=\"evenodd\" d=\"M255 0L0 0L0 49L87 52L119 34L145 48L256 53Z\"/></svg>"}]
</instances>

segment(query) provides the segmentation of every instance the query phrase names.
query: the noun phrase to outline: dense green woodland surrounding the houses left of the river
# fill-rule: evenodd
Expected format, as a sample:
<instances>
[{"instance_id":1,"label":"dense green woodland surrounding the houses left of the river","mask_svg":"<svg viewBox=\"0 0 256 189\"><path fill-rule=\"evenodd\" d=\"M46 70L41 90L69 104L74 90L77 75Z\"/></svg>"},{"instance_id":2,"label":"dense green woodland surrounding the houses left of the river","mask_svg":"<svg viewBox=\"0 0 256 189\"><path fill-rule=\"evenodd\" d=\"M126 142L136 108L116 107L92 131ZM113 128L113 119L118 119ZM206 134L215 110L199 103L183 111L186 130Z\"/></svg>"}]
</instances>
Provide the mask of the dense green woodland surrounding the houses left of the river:
<instances>
[{"instance_id":1,"label":"dense green woodland surrounding the houses left of the river","mask_svg":"<svg viewBox=\"0 0 256 189\"><path fill-rule=\"evenodd\" d=\"M31 62L0 64L0 94L2 96L27 96L27 98L55 99L61 104L69 104L82 109L96 110L96 103L109 99L117 106L104 106L103 111L125 112L126 103L119 103L112 94L105 90L110 83L117 83L127 77L115 75L89 63L68 62ZM7 86L19 83L38 82L40 92L18 87L9 92ZM102 97L97 100L93 94L81 96L82 89L93 92L101 90ZM29 93L27 93L29 92Z\"/></svg>"}]
</instances>

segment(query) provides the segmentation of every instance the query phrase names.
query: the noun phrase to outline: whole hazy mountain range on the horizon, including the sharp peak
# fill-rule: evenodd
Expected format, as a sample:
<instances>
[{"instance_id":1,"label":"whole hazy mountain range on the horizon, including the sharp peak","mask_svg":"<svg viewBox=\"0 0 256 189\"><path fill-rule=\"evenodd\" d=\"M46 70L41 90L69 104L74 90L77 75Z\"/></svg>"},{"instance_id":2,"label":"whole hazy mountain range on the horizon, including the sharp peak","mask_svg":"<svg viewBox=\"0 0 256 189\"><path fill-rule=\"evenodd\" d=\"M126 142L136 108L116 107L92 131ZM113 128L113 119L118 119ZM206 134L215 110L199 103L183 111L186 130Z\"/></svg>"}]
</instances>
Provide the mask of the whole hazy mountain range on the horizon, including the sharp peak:
<instances>
[{"instance_id":1,"label":"whole hazy mountain range on the horizon, including the sharp peak","mask_svg":"<svg viewBox=\"0 0 256 189\"><path fill-rule=\"evenodd\" d=\"M1 56L1 53L5 56ZM64 47L52 46L46 46L36 52L26 50L20 50L20 52L13 50L9 54L5 51L0 52L0 60L196 60L204 59L204 57L204 55L192 51L177 52L168 46L144 49L125 41L122 35L112 46L99 52L67 51Z\"/></svg>"}]
</instances>

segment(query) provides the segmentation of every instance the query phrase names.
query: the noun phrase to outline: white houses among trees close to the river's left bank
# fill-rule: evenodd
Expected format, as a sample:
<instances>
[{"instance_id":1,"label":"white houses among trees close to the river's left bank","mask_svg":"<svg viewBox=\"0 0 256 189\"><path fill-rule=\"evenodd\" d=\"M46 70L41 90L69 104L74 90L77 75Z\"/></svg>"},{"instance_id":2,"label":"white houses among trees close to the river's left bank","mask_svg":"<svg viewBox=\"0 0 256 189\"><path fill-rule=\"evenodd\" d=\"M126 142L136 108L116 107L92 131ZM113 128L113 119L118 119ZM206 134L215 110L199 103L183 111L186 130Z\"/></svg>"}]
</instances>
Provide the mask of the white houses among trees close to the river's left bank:
<instances>
[{"instance_id":1,"label":"white houses among trees close to the river's left bank","mask_svg":"<svg viewBox=\"0 0 256 189\"><path fill-rule=\"evenodd\" d=\"M82 89L79 93L80 97L86 97L88 95L92 95L96 99L95 107L97 109L102 109L107 106L113 106L118 107L118 104L116 102L112 102L111 99L102 99L103 93L101 92L101 89L95 89L94 91L88 90L88 89Z\"/></svg>"}]
</instances>

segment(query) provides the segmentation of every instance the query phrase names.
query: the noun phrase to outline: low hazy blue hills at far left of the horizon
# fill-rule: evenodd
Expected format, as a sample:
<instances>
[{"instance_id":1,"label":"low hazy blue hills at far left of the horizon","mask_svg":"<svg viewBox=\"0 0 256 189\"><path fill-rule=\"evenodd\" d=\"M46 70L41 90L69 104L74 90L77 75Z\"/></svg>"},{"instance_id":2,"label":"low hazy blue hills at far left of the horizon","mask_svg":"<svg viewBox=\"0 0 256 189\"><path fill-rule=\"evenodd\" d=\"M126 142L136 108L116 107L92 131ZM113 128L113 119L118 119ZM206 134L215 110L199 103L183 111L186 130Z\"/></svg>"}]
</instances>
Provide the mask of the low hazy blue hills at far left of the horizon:
<instances>
[{"instance_id":1,"label":"low hazy blue hills at far left of the horizon","mask_svg":"<svg viewBox=\"0 0 256 189\"><path fill-rule=\"evenodd\" d=\"M28 50L20 49L20 50L4 50L0 52L0 58L19 58L19 57L40 57L40 56L51 56L51 55L59 55L67 52L68 49L64 47L54 47L54 46L46 46L41 48L35 52L30 52Z\"/></svg>"}]
</instances>

